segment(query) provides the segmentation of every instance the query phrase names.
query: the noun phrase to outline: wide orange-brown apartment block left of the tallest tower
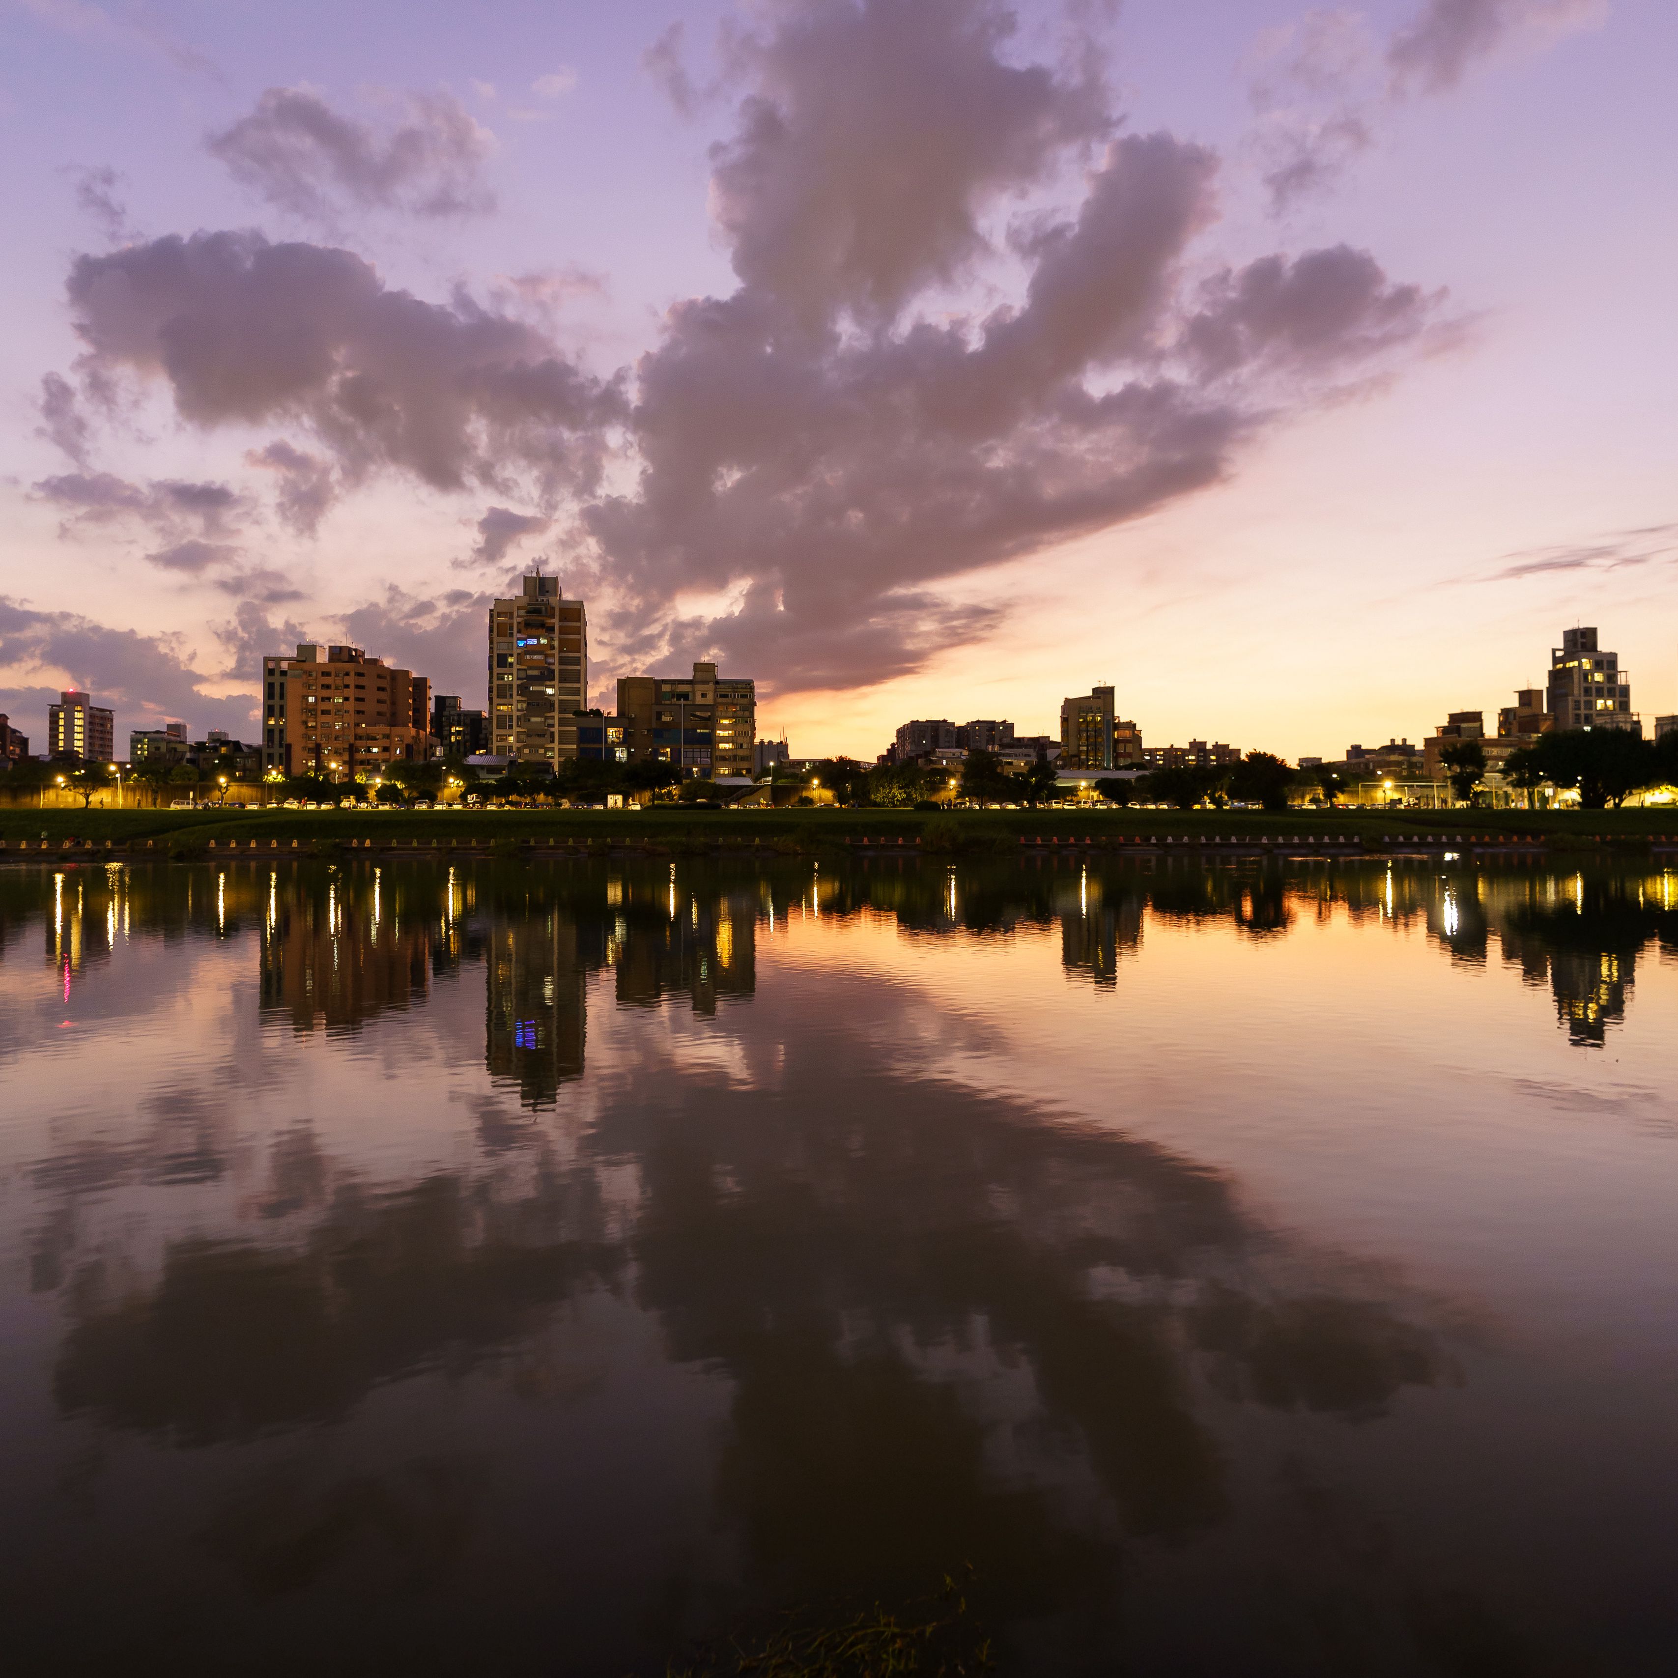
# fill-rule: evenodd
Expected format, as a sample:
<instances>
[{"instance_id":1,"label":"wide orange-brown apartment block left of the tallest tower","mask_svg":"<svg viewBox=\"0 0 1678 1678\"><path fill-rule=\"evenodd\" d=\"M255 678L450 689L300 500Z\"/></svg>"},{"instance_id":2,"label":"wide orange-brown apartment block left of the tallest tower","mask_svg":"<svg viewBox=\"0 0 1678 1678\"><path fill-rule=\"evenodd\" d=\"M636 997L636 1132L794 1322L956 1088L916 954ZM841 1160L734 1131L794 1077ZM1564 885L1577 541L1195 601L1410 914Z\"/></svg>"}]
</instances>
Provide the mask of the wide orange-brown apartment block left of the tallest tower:
<instances>
[{"instance_id":1,"label":"wide orange-brown apartment block left of the tallest tower","mask_svg":"<svg viewBox=\"0 0 1678 1678\"><path fill-rule=\"evenodd\" d=\"M359 646L262 661L262 767L354 780L431 755L431 683Z\"/></svg>"}]
</instances>

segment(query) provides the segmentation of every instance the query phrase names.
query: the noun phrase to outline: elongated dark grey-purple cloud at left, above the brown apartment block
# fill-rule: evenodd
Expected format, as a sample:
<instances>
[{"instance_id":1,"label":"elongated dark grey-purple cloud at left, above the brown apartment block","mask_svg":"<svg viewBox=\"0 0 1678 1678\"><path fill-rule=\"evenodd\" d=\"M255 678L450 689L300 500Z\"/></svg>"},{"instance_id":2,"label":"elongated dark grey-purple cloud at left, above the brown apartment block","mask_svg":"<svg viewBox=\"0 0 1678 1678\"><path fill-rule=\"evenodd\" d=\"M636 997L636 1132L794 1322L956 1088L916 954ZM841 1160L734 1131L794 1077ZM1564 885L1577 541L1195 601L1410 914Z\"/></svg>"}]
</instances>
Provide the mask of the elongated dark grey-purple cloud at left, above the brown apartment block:
<instances>
[{"instance_id":1,"label":"elongated dark grey-purple cloud at left, above the brown apartment block","mask_svg":"<svg viewBox=\"0 0 1678 1678\"><path fill-rule=\"evenodd\" d=\"M535 327L391 290L347 250L171 235L77 257L67 289L92 371L164 379L198 426L307 425L351 478L505 490L527 468L552 498L597 480L626 413Z\"/></svg>"}]
</instances>

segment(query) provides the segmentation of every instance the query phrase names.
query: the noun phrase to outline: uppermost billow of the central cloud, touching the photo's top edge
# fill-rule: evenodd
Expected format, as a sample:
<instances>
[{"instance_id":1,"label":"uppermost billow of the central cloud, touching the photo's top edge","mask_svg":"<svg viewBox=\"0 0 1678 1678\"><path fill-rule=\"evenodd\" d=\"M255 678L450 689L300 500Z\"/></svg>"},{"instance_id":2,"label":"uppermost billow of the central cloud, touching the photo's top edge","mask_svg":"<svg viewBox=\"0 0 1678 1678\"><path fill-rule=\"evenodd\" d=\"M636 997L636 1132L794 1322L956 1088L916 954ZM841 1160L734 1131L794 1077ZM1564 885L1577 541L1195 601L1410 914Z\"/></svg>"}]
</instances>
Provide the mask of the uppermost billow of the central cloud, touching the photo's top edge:
<instances>
[{"instance_id":1,"label":"uppermost billow of the central cloud, touching the photo's top edge","mask_svg":"<svg viewBox=\"0 0 1678 1678\"><path fill-rule=\"evenodd\" d=\"M980 211L1111 126L1092 77L1003 60L988 0L824 0L742 57L757 89L711 200L753 290L804 320L891 319L987 248Z\"/></svg>"}]
</instances>

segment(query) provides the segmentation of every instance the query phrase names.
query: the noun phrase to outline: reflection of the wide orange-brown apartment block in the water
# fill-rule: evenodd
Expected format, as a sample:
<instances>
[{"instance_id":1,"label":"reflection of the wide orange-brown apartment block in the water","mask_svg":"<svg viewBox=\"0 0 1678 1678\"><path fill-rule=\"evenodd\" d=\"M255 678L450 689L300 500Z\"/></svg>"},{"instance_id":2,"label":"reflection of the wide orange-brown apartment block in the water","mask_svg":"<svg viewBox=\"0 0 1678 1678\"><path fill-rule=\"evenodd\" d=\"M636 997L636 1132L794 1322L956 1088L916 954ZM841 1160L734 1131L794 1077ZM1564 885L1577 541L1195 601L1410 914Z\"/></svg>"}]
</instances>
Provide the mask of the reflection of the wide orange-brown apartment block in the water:
<instances>
[{"instance_id":1,"label":"reflection of the wide orange-brown apartment block in the water","mask_svg":"<svg viewBox=\"0 0 1678 1678\"><path fill-rule=\"evenodd\" d=\"M431 923L388 913L383 888L341 879L275 893L262 928L262 1014L292 1030L356 1030L430 992Z\"/></svg>"}]
</instances>

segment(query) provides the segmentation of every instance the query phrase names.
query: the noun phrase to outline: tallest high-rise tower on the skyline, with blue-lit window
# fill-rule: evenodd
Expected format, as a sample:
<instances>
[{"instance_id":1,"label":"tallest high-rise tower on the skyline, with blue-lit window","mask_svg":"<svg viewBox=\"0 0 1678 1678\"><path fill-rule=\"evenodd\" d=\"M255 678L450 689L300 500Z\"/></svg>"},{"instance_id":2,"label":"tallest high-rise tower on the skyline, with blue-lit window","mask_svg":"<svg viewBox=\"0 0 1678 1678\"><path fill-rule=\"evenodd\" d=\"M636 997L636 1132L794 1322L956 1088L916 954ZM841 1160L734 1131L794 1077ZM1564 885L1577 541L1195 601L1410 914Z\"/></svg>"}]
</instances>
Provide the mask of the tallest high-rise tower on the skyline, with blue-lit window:
<instances>
[{"instance_id":1,"label":"tallest high-rise tower on the skyline, with blue-lit window","mask_svg":"<svg viewBox=\"0 0 1678 1678\"><path fill-rule=\"evenodd\" d=\"M490 752L522 763L577 755L577 711L589 696L589 614L559 577L525 577L490 607Z\"/></svg>"}]
</instances>

